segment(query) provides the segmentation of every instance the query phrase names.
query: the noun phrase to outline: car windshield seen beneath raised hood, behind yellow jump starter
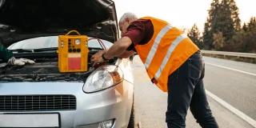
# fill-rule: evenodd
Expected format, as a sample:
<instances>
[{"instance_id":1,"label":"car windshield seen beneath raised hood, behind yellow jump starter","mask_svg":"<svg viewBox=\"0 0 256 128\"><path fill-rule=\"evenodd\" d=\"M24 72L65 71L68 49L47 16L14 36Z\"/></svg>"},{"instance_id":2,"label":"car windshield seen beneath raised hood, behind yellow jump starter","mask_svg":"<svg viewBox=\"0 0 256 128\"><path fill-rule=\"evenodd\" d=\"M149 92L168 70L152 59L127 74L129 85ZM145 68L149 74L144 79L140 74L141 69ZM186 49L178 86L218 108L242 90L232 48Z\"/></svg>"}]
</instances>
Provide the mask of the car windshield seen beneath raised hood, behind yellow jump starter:
<instances>
[{"instance_id":1,"label":"car windshield seen beneath raised hood, behind yellow jump starter","mask_svg":"<svg viewBox=\"0 0 256 128\"><path fill-rule=\"evenodd\" d=\"M90 39L90 37L89 37ZM101 39L106 49L109 49L113 43L108 42L106 40ZM50 36L50 37L39 37L39 38L30 38L20 42L15 42L11 46L8 47L9 50L17 50L17 49L43 49L43 48L52 48L58 47L58 36ZM97 39L91 39L88 42L88 47L91 48L102 48L101 44ZM102 48L103 49L103 48Z\"/></svg>"}]
</instances>

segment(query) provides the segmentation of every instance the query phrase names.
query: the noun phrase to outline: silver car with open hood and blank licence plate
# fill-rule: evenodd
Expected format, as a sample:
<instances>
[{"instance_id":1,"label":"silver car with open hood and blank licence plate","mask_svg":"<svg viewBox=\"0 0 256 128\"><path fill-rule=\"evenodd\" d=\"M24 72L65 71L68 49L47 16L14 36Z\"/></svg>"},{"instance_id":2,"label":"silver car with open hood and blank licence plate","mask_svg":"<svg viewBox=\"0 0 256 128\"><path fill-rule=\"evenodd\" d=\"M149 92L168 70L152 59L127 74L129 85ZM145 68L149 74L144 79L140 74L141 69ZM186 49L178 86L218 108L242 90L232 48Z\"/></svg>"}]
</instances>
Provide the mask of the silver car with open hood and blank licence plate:
<instances>
[{"instance_id":1,"label":"silver car with open hood and blank licence plate","mask_svg":"<svg viewBox=\"0 0 256 128\"><path fill-rule=\"evenodd\" d=\"M92 54L119 38L110 0L0 0L0 43L35 64L0 67L0 127L134 127L134 76L129 58L92 68ZM89 38L86 72L58 70L58 35ZM103 42L102 44L99 42Z\"/></svg>"}]
</instances>

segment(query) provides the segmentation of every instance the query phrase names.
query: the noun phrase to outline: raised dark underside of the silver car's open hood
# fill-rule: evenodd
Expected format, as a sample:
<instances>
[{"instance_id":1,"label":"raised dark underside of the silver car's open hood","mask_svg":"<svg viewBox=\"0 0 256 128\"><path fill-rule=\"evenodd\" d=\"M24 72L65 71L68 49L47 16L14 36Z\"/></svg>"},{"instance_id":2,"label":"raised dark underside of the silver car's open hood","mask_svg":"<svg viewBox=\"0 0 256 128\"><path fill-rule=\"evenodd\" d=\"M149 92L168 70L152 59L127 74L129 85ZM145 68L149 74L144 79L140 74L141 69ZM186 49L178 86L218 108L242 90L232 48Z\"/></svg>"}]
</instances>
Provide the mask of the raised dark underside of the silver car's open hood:
<instances>
[{"instance_id":1,"label":"raised dark underside of the silver car's open hood","mask_svg":"<svg viewBox=\"0 0 256 128\"><path fill-rule=\"evenodd\" d=\"M111 0L0 0L0 43L27 38L80 34L118 40L118 19Z\"/></svg>"}]
</instances>

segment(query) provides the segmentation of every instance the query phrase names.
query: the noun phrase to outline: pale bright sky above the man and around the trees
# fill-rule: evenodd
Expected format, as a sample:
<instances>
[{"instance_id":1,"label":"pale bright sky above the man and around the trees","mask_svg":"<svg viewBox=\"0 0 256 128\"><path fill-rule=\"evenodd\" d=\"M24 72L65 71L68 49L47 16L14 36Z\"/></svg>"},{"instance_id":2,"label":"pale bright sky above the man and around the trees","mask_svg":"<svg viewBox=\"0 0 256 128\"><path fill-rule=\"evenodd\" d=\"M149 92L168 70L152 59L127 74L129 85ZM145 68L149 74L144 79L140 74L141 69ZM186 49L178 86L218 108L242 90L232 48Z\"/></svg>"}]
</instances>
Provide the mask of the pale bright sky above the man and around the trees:
<instances>
[{"instance_id":1,"label":"pale bright sky above the man and around the trees","mask_svg":"<svg viewBox=\"0 0 256 128\"><path fill-rule=\"evenodd\" d=\"M161 18L178 28L190 29L194 23L202 32L212 0L114 0L118 20L122 14L131 12L138 17ZM249 22L256 17L256 0L235 0L239 8L239 18Z\"/></svg>"}]
</instances>

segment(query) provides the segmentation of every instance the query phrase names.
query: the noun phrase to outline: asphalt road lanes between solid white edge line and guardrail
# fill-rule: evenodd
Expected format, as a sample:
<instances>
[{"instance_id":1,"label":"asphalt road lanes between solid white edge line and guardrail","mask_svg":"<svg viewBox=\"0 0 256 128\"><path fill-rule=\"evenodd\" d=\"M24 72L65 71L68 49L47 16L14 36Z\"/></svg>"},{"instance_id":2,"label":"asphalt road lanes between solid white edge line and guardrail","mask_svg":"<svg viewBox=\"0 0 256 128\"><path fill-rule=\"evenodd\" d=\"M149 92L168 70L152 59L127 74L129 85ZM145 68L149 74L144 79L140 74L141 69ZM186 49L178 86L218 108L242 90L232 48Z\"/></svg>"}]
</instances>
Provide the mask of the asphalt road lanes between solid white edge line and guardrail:
<instances>
[{"instance_id":1,"label":"asphalt road lanes between solid white edge line and guardrail","mask_svg":"<svg viewBox=\"0 0 256 128\"><path fill-rule=\"evenodd\" d=\"M218 58L205 57L204 59L208 63L206 63L206 90L256 120L256 65ZM255 74L255 76L236 70L246 71Z\"/></svg>"}]
</instances>

